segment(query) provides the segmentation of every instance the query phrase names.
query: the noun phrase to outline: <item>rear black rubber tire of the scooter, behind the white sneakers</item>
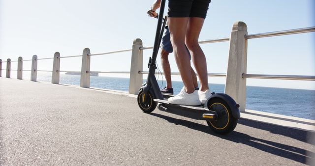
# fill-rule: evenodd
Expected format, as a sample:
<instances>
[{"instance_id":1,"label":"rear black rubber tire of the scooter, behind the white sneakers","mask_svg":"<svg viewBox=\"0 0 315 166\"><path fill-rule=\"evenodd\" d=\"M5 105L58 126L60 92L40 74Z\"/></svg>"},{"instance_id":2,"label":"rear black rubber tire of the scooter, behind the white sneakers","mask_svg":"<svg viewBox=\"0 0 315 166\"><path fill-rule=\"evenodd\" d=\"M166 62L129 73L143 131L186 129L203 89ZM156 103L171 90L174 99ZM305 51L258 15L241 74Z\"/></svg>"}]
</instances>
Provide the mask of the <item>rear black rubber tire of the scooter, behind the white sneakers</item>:
<instances>
[{"instance_id":1,"label":"rear black rubber tire of the scooter, behind the white sneakers","mask_svg":"<svg viewBox=\"0 0 315 166\"><path fill-rule=\"evenodd\" d=\"M232 132L235 129L238 119L233 117L230 107L223 99L211 99L207 105L209 110L216 111L218 113L217 119L207 120L211 130L213 130L215 133L224 135Z\"/></svg>"}]
</instances>

